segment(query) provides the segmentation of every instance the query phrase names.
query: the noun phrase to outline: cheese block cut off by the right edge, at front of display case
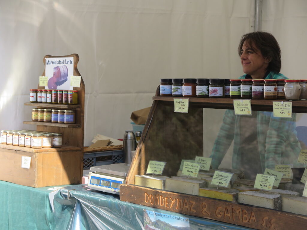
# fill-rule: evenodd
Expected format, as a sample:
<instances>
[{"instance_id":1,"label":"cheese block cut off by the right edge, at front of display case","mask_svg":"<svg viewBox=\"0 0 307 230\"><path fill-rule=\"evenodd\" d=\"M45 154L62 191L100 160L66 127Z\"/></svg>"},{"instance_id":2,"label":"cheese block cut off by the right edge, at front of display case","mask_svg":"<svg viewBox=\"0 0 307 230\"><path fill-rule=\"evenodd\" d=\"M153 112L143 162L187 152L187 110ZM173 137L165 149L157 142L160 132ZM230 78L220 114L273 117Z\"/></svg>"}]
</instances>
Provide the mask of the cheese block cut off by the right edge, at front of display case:
<instances>
[{"instance_id":1,"label":"cheese block cut off by the right edge, at front of display case","mask_svg":"<svg viewBox=\"0 0 307 230\"><path fill-rule=\"evenodd\" d=\"M307 197L283 197L282 211L307 215Z\"/></svg>"}]
</instances>

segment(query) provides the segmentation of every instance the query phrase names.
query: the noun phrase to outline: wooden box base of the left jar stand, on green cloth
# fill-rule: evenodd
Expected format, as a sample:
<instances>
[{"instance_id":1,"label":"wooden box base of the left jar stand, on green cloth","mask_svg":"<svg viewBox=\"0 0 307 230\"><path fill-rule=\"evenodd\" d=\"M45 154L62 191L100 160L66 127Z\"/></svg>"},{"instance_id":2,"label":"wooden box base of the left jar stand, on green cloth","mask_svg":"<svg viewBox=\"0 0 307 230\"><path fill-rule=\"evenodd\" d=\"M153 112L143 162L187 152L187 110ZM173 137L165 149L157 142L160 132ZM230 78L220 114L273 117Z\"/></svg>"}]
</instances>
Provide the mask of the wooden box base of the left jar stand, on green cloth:
<instances>
[{"instance_id":1,"label":"wooden box base of the left jar stand, on green cloth","mask_svg":"<svg viewBox=\"0 0 307 230\"><path fill-rule=\"evenodd\" d=\"M31 157L21 168L21 156ZM0 180L30 187L80 184L81 148L26 148L0 144Z\"/></svg>"}]
</instances>

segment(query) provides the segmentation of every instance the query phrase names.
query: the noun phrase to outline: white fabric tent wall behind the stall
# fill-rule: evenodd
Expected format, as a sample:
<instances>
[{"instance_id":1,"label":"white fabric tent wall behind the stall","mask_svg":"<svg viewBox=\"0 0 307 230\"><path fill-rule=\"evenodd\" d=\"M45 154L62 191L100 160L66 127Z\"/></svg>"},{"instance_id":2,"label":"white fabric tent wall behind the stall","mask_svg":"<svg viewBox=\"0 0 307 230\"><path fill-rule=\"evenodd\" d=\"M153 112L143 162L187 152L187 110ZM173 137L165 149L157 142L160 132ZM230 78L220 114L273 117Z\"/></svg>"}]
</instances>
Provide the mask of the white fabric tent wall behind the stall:
<instances>
[{"instance_id":1,"label":"white fabric tent wall behind the stall","mask_svg":"<svg viewBox=\"0 0 307 230\"><path fill-rule=\"evenodd\" d=\"M263 1L262 29L282 49L282 73L304 76L306 1ZM0 1L0 129L24 125L45 55L77 53L85 82L84 145L122 138L130 114L152 104L160 78L237 78L253 0ZM217 127L218 129L218 127Z\"/></svg>"}]
</instances>

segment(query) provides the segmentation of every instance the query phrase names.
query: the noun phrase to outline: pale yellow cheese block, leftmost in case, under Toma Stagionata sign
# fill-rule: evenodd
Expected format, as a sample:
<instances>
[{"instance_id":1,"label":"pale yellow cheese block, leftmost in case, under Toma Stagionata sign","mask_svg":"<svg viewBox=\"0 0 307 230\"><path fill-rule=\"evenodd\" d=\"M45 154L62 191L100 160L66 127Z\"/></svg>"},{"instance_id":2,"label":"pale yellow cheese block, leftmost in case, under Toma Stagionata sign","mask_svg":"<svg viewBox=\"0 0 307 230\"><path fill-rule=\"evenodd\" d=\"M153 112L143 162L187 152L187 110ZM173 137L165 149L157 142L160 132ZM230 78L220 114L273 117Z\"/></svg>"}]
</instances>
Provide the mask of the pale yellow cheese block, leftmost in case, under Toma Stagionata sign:
<instances>
[{"instance_id":1,"label":"pale yellow cheese block, leftmost in case, under Toma Stagionata sign","mask_svg":"<svg viewBox=\"0 0 307 230\"><path fill-rule=\"evenodd\" d=\"M165 190L165 179L167 176L147 176L147 175L136 175L134 176L134 184L145 186L154 189Z\"/></svg>"}]
</instances>

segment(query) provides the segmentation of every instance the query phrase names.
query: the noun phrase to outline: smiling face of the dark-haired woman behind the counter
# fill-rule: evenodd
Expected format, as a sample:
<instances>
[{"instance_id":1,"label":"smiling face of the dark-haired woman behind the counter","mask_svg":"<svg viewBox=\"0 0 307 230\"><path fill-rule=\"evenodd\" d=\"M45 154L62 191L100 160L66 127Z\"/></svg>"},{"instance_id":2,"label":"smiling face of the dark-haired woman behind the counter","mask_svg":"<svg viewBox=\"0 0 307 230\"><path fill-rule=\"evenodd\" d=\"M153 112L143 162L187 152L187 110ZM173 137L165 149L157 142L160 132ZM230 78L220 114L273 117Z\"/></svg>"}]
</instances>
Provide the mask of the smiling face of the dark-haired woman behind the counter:
<instances>
[{"instance_id":1,"label":"smiling face of the dark-haired woman behind the counter","mask_svg":"<svg viewBox=\"0 0 307 230\"><path fill-rule=\"evenodd\" d=\"M253 79L264 78L269 61L262 56L258 48L250 47L244 42L240 58L244 73L251 75Z\"/></svg>"}]
</instances>

